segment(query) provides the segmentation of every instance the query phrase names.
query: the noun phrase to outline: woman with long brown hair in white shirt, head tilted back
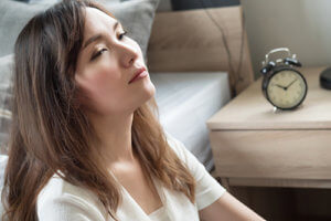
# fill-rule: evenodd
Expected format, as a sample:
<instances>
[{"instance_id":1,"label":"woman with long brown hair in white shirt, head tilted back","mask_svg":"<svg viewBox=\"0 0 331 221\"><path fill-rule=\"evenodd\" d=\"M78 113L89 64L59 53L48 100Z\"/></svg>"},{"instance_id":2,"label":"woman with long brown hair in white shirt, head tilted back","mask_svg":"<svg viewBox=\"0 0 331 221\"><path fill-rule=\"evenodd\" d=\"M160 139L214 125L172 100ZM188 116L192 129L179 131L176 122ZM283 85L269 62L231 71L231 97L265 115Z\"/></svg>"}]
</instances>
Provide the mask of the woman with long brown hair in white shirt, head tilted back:
<instances>
[{"instance_id":1,"label":"woman with long brown hair in white shirt, head tilted back","mask_svg":"<svg viewBox=\"0 0 331 221\"><path fill-rule=\"evenodd\" d=\"M162 130L141 50L125 34L87 0L60 2L20 33L4 218L263 220Z\"/></svg>"}]
</instances>

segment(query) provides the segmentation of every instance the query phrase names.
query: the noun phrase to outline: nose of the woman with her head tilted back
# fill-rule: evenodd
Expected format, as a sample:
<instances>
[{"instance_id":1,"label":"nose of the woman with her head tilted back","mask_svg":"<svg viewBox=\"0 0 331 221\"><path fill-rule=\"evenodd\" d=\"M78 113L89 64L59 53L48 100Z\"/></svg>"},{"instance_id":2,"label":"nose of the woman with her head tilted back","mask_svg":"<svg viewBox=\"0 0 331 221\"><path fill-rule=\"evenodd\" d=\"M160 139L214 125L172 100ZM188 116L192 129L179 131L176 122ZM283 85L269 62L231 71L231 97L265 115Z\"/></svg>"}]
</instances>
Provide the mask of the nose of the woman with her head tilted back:
<instances>
[{"instance_id":1,"label":"nose of the woman with her head tilted back","mask_svg":"<svg viewBox=\"0 0 331 221\"><path fill-rule=\"evenodd\" d=\"M120 63L124 67L130 67L139 56L138 49L129 44L118 45Z\"/></svg>"}]
</instances>

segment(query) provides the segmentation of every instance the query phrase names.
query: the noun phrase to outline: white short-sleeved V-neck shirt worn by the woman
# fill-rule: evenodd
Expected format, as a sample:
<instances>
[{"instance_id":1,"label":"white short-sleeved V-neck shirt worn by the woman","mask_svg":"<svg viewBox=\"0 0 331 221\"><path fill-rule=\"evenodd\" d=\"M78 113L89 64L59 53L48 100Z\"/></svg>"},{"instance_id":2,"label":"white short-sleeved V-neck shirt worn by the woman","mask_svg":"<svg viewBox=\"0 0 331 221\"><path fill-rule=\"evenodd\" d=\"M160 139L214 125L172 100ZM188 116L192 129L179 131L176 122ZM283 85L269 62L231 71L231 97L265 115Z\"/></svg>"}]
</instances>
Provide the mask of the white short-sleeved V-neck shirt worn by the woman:
<instances>
[{"instance_id":1,"label":"white short-sleeved V-neck shirt worn by the woman","mask_svg":"<svg viewBox=\"0 0 331 221\"><path fill-rule=\"evenodd\" d=\"M196 180L195 203L179 191L162 186L152 179L162 201L162 208L146 214L139 204L122 187L122 203L116 215L120 221L199 221L199 210L212 204L226 190L205 170L204 166L184 145L166 133L169 145L183 160ZM54 175L38 197L38 217L40 221L110 221L97 197L89 190L73 186Z\"/></svg>"}]
</instances>

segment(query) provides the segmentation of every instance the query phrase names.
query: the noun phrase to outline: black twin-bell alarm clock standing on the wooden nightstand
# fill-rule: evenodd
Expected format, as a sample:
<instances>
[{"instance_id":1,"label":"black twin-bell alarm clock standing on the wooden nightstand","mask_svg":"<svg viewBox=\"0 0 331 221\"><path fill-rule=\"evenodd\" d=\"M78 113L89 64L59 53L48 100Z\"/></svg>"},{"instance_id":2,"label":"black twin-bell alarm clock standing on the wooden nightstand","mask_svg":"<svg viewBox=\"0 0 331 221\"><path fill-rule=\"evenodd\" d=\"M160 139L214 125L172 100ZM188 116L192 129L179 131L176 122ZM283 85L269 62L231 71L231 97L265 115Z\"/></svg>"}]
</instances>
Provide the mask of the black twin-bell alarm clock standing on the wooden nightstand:
<instances>
[{"instance_id":1,"label":"black twin-bell alarm clock standing on the wooden nightstand","mask_svg":"<svg viewBox=\"0 0 331 221\"><path fill-rule=\"evenodd\" d=\"M286 52L287 56L270 61L275 53ZM307 81L295 67L301 63L291 55L289 49L274 49L266 54L260 72L264 75L261 91L267 101L276 108L288 110L297 108L306 98L308 92Z\"/></svg>"}]
</instances>

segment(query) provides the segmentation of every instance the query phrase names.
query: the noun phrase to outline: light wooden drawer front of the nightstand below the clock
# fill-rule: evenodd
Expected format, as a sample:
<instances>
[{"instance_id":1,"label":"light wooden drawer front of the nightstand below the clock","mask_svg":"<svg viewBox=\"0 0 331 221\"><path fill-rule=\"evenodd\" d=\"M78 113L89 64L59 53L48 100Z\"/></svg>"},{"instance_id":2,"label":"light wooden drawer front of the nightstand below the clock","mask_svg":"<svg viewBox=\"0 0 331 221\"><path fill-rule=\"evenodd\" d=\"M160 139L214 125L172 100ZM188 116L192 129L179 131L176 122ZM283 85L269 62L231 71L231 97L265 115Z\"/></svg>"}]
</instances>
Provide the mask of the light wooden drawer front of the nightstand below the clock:
<instances>
[{"instance_id":1,"label":"light wooden drawer front of the nightstand below the clock","mask_svg":"<svg viewBox=\"0 0 331 221\"><path fill-rule=\"evenodd\" d=\"M210 138L217 176L331 179L331 130L213 130Z\"/></svg>"}]
</instances>

